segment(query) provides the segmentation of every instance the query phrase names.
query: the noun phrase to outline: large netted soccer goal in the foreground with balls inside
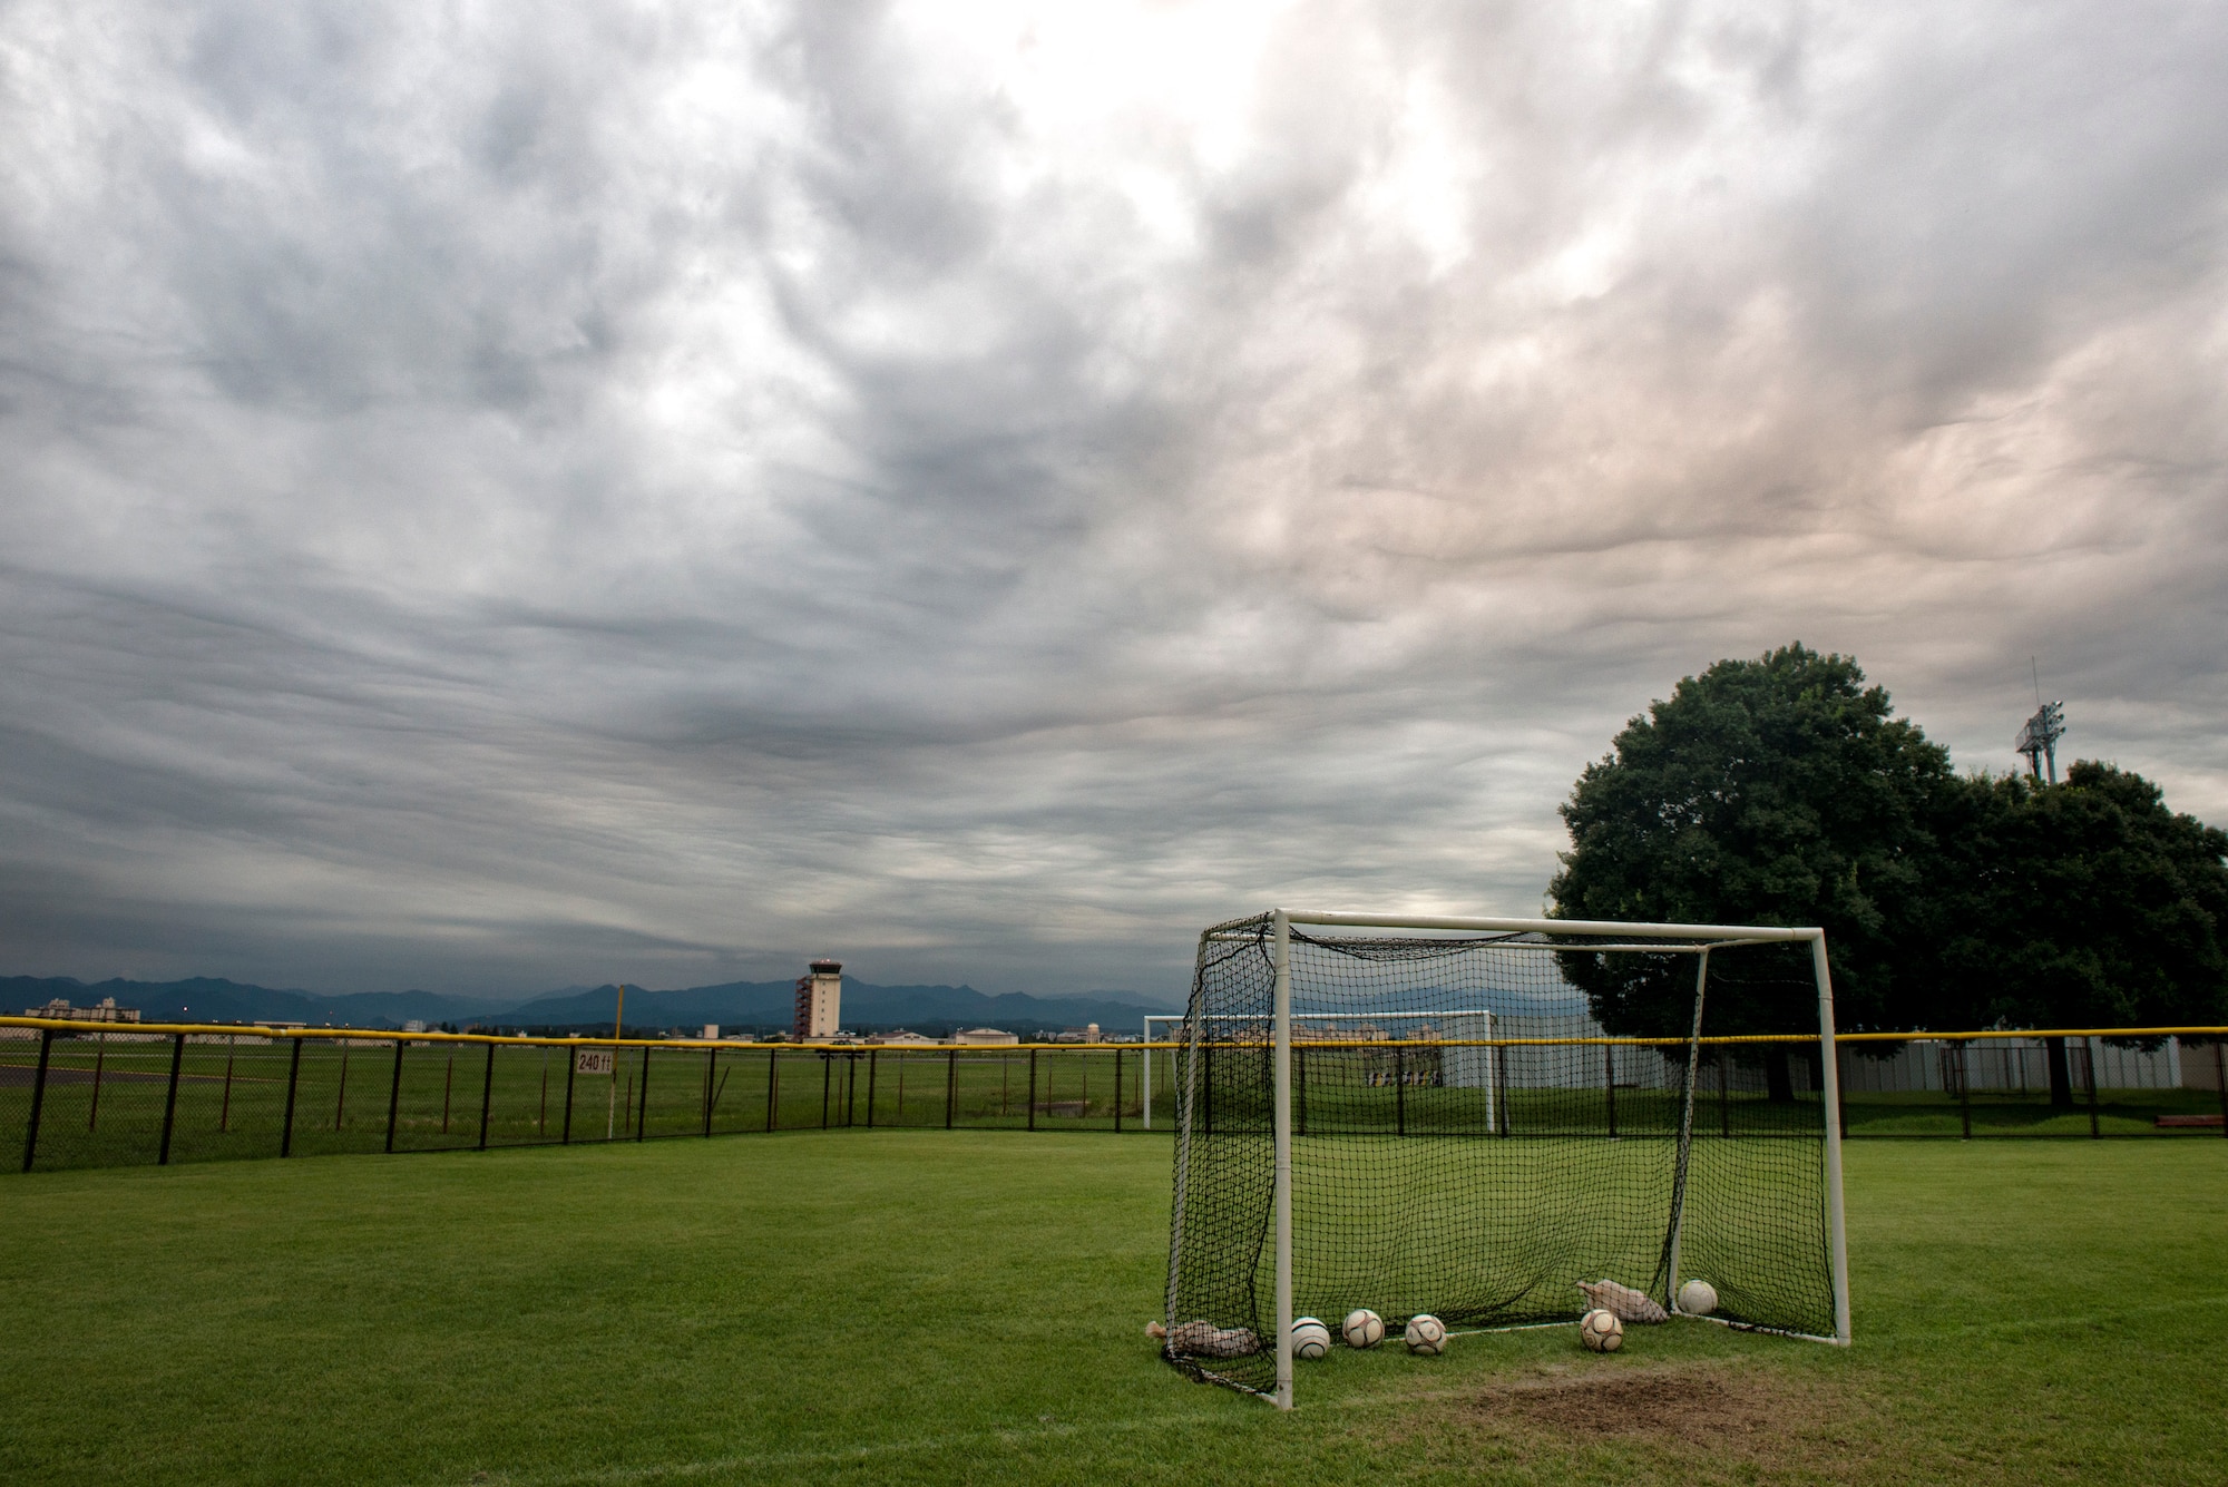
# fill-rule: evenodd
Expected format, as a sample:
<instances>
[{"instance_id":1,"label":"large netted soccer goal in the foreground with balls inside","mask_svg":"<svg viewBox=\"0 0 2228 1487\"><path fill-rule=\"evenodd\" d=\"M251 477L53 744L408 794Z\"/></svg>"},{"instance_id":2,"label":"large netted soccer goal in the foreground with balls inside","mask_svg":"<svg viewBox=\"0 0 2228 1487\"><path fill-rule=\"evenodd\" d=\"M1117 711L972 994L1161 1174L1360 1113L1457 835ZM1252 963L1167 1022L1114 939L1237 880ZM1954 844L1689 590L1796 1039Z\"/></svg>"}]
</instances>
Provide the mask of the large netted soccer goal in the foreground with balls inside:
<instances>
[{"instance_id":1,"label":"large netted soccer goal in the foreground with balls inside","mask_svg":"<svg viewBox=\"0 0 2228 1487\"><path fill-rule=\"evenodd\" d=\"M1199 937L1176 1042L1194 1378L1290 1409L1294 1316L1533 1327L1595 1280L1849 1340L1816 928L1274 910Z\"/></svg>"}]
</instances>

